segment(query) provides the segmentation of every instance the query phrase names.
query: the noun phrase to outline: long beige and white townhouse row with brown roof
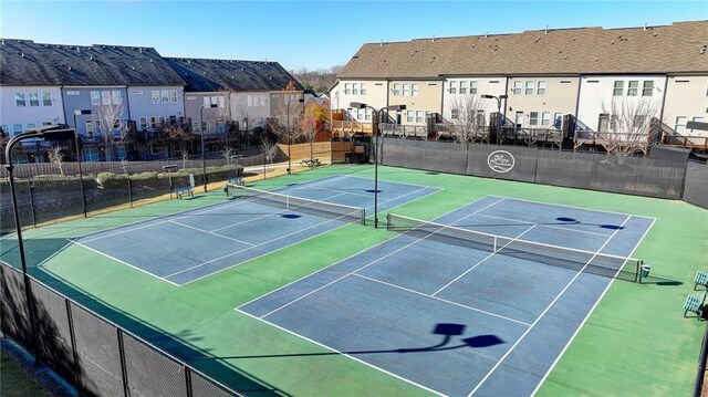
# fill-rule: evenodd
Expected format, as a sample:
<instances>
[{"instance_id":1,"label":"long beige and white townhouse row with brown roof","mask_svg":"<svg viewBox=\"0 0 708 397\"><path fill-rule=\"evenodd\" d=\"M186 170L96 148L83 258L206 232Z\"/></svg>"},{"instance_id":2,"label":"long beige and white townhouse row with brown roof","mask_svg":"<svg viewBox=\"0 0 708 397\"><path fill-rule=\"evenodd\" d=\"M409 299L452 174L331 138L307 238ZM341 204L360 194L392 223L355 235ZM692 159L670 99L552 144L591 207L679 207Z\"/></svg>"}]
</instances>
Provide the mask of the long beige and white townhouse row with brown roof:
<instances>
[{"instance_id":1,"label":"long beige and white townhouse row with brown roof","mask_svg":"<svg viewBox=\"0 0 708 397\"><path fill-rule=\"evenodd\" d=\"M580 139L593 137L581 144L602 146L613 119L627 117L659 126L658 135L647 136L700 136L705 133L686 132L685 125L708 112L706 32L708 21L693 21L367 43L339 74L332 105L345 115L341 127L346 119L367 122L347 108L348 102L376 108L405 104L413 112L393 122L413 126L423 124L426 113L455 125L461 107L473 103L480 124L492 126L500 111L506 119L500 126L527 136L550 129L575 139L579 130ZM372 82L386 90L372 90ZM438 132L429 128L427 138ZM708 147L708 136L704 140Z\"/></svg>"}]
</instances>

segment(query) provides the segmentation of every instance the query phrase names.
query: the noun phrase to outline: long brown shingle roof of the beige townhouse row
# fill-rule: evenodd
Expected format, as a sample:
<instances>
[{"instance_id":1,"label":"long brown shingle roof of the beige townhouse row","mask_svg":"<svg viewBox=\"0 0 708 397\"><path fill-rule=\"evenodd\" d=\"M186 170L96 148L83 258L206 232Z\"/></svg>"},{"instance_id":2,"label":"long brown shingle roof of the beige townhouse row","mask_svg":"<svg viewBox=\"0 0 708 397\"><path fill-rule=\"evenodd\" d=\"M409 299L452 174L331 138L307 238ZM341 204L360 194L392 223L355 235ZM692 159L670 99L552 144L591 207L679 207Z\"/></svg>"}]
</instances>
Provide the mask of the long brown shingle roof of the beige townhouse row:
<instances>
[{"instance_id":1,"label":"long brown shingle roof of the beige townhouse row","mask_svg":"<svg viewBox=\"0 0 708 397\"><path fill-rule=\"evenodd\" d=\"M708 72L708 21L364 44L339 79Z\"/></svg>"}]
</instances>

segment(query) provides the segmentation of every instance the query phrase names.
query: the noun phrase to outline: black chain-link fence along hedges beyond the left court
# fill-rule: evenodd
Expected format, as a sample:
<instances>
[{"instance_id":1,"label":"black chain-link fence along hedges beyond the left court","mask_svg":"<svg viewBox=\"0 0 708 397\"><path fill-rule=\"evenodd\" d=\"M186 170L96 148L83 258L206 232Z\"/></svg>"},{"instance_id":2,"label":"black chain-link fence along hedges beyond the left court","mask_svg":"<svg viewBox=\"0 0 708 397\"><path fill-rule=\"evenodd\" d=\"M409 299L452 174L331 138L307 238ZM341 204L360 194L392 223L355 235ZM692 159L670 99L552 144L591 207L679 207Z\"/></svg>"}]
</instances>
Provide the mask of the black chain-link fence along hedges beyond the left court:
<instances>
[{"instance_id":1,"label":"black chain-link fence along hedges beyond the left court","mask_svg":"<svg viewBox=\"0 0 708 397\"><path fill-rule=\"evenodd\" d=\"M266 156L260 148L240 149L237 158L206 161L207 181L219 182L237 176L238 168L260 166ZM230 155L229 155L230 156ZM170 164L171 173L163 169ZM204 185L200 160L85 163L81 173L75 163L60 169L54 164L15 165L13 176L22 227L65 217L83 216L116 206L168 195L173 189ZM0 234L14 231L12 200L7 170L0 171Z\"/></svg>"}]
</instances>

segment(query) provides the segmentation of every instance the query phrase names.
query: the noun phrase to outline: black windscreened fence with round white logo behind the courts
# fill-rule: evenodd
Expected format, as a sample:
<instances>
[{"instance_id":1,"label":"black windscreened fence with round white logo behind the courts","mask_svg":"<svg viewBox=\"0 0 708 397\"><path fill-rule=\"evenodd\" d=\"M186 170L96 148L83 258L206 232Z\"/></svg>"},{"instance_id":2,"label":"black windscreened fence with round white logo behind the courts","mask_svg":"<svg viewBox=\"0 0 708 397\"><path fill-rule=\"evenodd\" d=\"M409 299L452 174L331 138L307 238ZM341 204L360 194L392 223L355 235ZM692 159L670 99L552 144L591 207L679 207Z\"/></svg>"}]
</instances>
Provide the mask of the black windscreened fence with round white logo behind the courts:
<instances>
[{"instance_id":1,"label":"black windscreened fence with round white logo behind the courts","mask_svg":"<svg viewBox=\"0 0 708 397\"><path fill-rule=\"evenodd\" d=\"M521 146L384 138L383 164L628 195L708 208L708 166Z\"/></svg>"}]
</instances>

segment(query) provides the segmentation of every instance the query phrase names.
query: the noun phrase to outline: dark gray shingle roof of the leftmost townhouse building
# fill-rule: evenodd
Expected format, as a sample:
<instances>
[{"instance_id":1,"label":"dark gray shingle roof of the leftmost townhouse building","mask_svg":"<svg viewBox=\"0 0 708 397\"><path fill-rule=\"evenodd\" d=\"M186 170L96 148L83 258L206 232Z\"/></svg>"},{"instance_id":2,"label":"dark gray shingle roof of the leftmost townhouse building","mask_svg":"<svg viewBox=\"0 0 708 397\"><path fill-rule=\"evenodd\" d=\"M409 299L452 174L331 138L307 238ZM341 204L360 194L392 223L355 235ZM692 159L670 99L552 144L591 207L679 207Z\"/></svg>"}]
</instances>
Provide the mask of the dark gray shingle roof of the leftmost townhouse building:
<instances>
[{"instance_id":1,"label":"dark gray shingle roof of the leftmost townhouse building","mask_svg":"<svg viewBox=\"0 0 708 397\"><path fill-rule=\"evenodd\" d=\"M152 48L2 39L0 84L185 85L185 82Z\"/></svg>"}]
</instances>

